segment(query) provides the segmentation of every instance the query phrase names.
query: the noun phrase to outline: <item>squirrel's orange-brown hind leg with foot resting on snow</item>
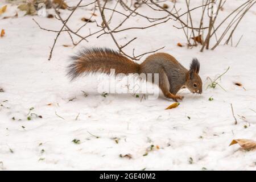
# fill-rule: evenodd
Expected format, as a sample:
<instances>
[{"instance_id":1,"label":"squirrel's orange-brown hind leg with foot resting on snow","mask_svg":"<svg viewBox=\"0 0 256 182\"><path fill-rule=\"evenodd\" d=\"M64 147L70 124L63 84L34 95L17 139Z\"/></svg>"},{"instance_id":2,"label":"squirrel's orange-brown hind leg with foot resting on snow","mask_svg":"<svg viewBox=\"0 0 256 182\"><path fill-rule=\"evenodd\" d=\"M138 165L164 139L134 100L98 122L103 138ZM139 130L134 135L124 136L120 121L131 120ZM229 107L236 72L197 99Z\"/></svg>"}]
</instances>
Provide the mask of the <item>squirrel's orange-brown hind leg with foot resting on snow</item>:
<instances>
[{"instance_id":1,"label":"squirrel's orange-brown hind leg with foot resting on snow","mask_svg":"<svg viewBox=\"0 0 256 182\"><path fill-rule=\"evenodd\" d=\"M162 90L164 96L167 98L171 98L176 102L177 100L183 99L183 96L174 95L170 92L170 83L164 69L160 69L159 72L159 88Z\"/></svg>"}]
</instances>

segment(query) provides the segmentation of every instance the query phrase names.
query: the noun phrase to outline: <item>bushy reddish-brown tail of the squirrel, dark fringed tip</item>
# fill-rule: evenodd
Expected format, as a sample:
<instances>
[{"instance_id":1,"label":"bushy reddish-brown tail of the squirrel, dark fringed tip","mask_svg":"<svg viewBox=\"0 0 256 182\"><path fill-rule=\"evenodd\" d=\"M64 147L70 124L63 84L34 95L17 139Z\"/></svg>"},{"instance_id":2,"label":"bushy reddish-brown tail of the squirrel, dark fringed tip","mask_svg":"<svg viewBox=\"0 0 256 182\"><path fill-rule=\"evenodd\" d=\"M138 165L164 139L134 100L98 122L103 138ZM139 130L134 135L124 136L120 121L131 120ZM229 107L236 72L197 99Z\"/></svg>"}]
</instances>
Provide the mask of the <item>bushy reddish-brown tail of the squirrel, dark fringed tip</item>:
<instances>
[{"instance_id":1,"label":"bushy reddish-brown tail of the squirrel, dark fringed tip","mask_svg":"<svg viewBox=\"0 0 256 182\"><path fill-rule=\"evenodd\" d=\"M139 73L139 64L108 48L83 49L71 57L72 63L68 66L67 75L74 80L88 73L110 73L115 69L118 73Z\"/></svg>"}]
</instances>

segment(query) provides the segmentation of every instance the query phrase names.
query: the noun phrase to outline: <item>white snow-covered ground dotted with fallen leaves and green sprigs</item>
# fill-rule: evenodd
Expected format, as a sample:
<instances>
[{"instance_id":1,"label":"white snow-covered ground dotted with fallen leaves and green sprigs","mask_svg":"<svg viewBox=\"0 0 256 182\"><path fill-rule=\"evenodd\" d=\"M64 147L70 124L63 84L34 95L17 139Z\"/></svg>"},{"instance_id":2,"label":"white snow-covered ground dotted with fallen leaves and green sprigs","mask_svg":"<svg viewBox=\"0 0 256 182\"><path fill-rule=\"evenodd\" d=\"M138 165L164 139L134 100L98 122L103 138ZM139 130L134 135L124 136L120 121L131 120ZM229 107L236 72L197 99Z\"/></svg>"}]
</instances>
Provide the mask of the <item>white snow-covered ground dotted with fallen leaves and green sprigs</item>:
<instances>
[{"instance_id":1,"label":"white snow-covered ground dotted with fallen leaves and green sprigs","mask_svg":"<svg viewBox=\"0 0 256 182\"><path fill-rule=\"evenodd\" d=\"M67 2L69 5L77 3ZM228 14L242 2L228 1L224 12ZM167 3L171 5L171 2ZM193 3L196 6L201 1ZM1 1L0 7L5 4ZM183 2L179 1L177 5L185 9ZM146 6L142 10L149 12ZM14 15L15 11L15 5L8 5L0 18ZM69 12L61 10L63 15ZM61 34L52 60L47 61L56 34L40 30L32 18L42 27L54 30L59 30L61 24L56 19L18 13L18 18L0 20L0 29L6 31L0 38L0 88L5 90L0 92L0 170L256 169L255 151L243 151L238 145L229 147L233 139L256 140L255 6L233 36L235 44L243 35L237 47L219 46L203 53L199 47L177 47L178 42L185 44L186 40L182 30L172 27L176 23L173 20L146 30L117 35L121 43L138 37L127 47L129 53L133 48L139 54L166 46L161 52L175 56L187 68L192 57L200 60L203 94L181 90L184 100L171 110L165 108L173 101L166 100L162 93L158 100L141 100L142 94L139 98L131 94L102 97L97 92L98 84L101 84L97 77L82 77L70 82L65 76L69 56L82 46L116 49L113 41L105 35L99 39L89 38L89 43L82 42L75 48L63 47L63 44L72 43L68 34ZM81 26L80 19L90 13L89 7L77 10L69 26ZM119 16L115 17L118 23ZM95 19L101 22L100 16ZM139 17L130 23L148 24ZM89 26L95 30L94 23ZM84 32L88 33L88 27ZM206 89L207 77L214 78L228 67L229 71L220 82L226 92L218 86ZM241 82L245 89L234 82ZM120 89L122 86L125 85L121 84ZM84 97L81 90L88 96ZM209 97L214 100L209 101ZM234 125L230 103L237 125ZM31 113L42 115L42 118L33 115L28 121L31 107L34 107ZM245 117L247 122L238 115ZM75 144L74 139L80 143ZM154 145L153 150L143 156L151 145ZM120 154L130 154L132 158L121 158Z\"/></svg>"}]
</instances>

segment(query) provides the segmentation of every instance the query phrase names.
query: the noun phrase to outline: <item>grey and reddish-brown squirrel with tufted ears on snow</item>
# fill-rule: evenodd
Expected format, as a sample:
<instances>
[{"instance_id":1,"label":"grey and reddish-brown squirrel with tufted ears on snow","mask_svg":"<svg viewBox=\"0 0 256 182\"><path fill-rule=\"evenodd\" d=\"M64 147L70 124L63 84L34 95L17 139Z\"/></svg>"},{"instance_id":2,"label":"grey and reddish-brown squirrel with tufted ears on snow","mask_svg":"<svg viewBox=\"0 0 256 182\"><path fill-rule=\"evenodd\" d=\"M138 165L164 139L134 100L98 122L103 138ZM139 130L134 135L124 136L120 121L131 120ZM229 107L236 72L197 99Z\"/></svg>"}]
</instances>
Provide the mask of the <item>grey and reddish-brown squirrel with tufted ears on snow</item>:
<instances>
[{"instance_id":1,"label":"grey and reddish-brown squirrel with tufted ears on snow","mask_svg":"<svg viewBox=\"0 0 256 182\"><path fill-rule=\"evenodd\" d=\"M200 63L193 59L190 69L186 69L168 53L154 53L138 64L109 48L85 48L71 57L67 76L71 80L89 73L110 74L110 69L118 73L159 73L159 88L166 98L182 100L176 95L181 88L187 88L192 93L202 93L202 81L199 76ZM153 78L154 82L154 78Z\"/></svg>"}]
</instances>

